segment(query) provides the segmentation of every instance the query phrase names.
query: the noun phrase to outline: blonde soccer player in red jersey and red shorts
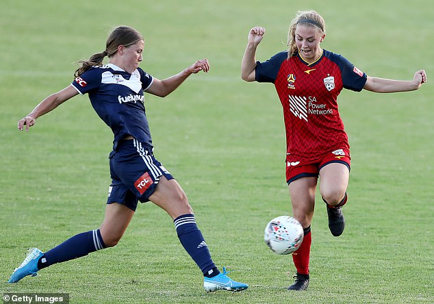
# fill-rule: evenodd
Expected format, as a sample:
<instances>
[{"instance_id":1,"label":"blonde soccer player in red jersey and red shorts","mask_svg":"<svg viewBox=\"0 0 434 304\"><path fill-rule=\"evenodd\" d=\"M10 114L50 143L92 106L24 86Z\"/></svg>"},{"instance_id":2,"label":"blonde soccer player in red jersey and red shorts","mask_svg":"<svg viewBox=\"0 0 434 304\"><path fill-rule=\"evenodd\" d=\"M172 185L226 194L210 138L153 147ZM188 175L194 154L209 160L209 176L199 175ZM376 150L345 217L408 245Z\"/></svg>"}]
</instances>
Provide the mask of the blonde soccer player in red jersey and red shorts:
<instances>
[{"instance_id":1,"label":"blonde soccer player in red jersey and red shorts","mask_svg":"<svg viewBox=\"0 0 434 304\"><path fill-rule=\"evenodd\" d=\"M383 93L417 90L426 82L426 73L417 71L411 81L366 75L341 55L321 49L325 23L314 11L298 12L292 20L287 51L266 62L257 62L255 54L264 34L263 27L249 31L241 77L245 81L275 84L283 107L286 181L293 216L305 231L301 247L292 254L297 273L295 283L288 289L305 290L309 286L311 220L318 177L331 233L340 236L345 227L341 208L347 201L350 147L338 112L337 96L342 88Z\"/></svg>"}]
</instances>

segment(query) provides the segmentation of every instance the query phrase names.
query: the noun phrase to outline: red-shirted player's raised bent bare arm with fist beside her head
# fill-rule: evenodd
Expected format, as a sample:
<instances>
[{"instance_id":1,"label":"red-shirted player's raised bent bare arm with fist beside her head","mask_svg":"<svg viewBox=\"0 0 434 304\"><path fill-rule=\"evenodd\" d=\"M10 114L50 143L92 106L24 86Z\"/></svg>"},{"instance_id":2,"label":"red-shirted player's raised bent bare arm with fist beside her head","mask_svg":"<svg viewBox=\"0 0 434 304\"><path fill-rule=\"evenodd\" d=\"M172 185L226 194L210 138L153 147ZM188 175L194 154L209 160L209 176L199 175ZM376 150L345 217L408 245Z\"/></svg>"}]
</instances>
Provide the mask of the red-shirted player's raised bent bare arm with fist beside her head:
<instances>
[{"instance_id":1,"label":"red-shirted player's raised bent bare arm with fist beside her head","mask_svg":"<svg viewBox=\"0 0 434 304\"><path fill-rule=\"evenodd\" d=\"M264 27L253 27L248 32L247 47L241 61L241 78L245 81L255 81L256 49L264 34Z\"/></svg>"}]
</instances>

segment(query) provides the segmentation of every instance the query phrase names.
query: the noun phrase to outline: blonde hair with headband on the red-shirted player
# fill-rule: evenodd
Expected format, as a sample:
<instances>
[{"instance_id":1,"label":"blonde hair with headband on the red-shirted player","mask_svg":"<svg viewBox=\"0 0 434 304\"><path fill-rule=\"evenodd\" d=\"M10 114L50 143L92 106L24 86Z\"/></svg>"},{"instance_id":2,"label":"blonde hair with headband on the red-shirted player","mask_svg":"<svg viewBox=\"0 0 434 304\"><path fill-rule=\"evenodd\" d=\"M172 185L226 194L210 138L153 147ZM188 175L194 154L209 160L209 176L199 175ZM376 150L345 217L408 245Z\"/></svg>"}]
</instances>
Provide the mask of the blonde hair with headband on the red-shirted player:
<instances>
[{"instance_id":1,"label":"blonde hair with headband on the red-shirted player","mask_svg":"<svg viewBox=\"0 0 434 304\"><path fill-rule=\"evenodd\" d=\"M288 58L290 58L297 51L295 42L295 29L297 25L310 25L318 27L323 34L326 34L324 18L314 10L298 11L295 18L292 19L290 30L288 31Z\"/></svg>"}]
</instances>

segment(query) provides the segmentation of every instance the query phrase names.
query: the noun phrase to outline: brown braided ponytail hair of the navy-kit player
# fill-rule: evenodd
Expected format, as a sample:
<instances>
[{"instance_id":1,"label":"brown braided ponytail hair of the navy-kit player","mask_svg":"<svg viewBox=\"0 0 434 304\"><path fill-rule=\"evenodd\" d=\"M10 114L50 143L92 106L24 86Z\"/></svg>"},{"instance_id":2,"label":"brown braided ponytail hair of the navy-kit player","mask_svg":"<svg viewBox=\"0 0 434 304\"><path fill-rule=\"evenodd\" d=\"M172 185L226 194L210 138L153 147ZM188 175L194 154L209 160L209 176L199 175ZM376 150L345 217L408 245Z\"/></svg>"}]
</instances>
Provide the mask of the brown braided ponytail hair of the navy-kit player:
<instances>
[{"instance_id":1,"label":"brown braided ponytail hair of the navy-kit player","mask_svg":"<svg viewBox=\"0 0 434 304\"><path fill-rule=\"evenodd\" d=\"M144 40L142 34L133 27L119 26L113 29L112 33L107 38L105 42L105 50L101 53L96 53L90 56L89 60L80 60L79 68L75 71L74 76L78 77L84 72L88 71L92 66L103 65L103 60L105 56L109 58L112 57L117 51L118 46L123 45L124 47L129 47L130 45L136 44L138 41Z\"/></svg>"}]
</instances>

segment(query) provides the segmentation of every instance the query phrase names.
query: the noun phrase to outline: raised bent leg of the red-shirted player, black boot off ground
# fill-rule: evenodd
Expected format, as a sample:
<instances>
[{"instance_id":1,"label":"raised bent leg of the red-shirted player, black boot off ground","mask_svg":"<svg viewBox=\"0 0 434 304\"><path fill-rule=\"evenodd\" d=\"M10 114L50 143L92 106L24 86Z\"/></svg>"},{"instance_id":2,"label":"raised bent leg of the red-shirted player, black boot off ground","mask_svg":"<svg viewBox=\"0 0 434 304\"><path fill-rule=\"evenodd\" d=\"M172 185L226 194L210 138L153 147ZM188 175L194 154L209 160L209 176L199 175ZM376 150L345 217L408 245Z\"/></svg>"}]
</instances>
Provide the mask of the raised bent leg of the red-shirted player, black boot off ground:
<instances>
[{"instance_id":1,"label":"raised bent leg of the red-shirted player, black boot off ground","mask_svg":"<svg viewBox=\"0 0 434 304\"><path fill-rule=\"evenodd\" d=\"M320 169L320 192L327 204L329 229L333 236L340 236L345 229L341 208L347 201L346 188L350 177L348 166L341 162L332 162Z\"/></svg>"}]
</instances>

